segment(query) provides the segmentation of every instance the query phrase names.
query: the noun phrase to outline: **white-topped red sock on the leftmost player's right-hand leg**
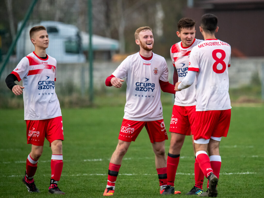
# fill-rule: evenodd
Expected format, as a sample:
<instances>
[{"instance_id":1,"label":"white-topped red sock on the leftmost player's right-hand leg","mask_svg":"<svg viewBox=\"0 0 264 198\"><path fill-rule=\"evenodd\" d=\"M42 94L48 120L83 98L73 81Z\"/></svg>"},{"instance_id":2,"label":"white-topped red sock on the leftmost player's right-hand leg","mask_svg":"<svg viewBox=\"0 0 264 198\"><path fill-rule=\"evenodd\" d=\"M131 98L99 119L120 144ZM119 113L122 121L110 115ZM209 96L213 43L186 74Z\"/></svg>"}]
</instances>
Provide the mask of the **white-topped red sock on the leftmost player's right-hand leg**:
<instances>
[{"instance_id":1,"label":"white-topped red sock on the leftmost player's right-hand leg","mask_svg":"<svg viewBox=\"0 0 264 198\"><path fill-rule=\"evenodd\" d=\"M62 155L51 155L51 162L50 162L50 167L51 167L51 179L55 181L60 180L60 176L62 175L62 167L63 167L63 162L62 162Z\"/></svg>"}]
</instances>

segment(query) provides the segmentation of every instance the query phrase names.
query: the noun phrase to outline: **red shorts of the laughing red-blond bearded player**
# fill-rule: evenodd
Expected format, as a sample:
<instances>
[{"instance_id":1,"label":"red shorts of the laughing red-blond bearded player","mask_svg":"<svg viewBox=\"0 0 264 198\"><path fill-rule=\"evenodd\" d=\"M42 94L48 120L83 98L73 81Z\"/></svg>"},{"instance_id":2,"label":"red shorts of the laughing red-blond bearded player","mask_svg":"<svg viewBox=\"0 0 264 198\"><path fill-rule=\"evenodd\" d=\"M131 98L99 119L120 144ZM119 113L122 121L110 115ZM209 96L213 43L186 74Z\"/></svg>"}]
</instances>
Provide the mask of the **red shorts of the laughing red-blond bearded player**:
<instances>
[{"instance_id":1,"label":"red shorts of the laughing red-blond bearded player","mask_svg":"<svg viewBox=\"0 0 264 198\"><path fill-rule=\"evenodd\" d=\"M162 142L168 139L163 119L155 121L133 121L123 119L118 139L125 142L135 142L136 137L144 126L147 129L151 143Z\"/></svg>"}]
</instances>

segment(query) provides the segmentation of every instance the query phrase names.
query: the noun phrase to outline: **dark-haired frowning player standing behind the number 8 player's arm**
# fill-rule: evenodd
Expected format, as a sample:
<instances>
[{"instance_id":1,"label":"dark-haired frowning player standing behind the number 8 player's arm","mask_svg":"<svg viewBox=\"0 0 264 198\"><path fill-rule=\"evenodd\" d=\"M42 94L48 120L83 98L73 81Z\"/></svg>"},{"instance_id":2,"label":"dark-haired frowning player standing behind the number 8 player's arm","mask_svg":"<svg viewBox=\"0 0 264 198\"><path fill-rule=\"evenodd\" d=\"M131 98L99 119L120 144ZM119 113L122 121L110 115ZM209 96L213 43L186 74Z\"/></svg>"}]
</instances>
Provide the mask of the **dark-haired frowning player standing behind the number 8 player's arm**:
<instances>
[{"instance_id":1,"label":"dark-haired frowning player standing behind the number 8 player's arm","mask_svg":"<svg viewBox=\"0 0 264 198\"><path fill-rule=\"evenodd\" d=\"M172 64L174 66L173 81L174 84L181 82L187 72L189 65L190 52L194 46L198 45L201 41L195 39L195 21L191 18L182 18L178 22L177 36L181 41L172 45L170 53ZM175 74L177 75L175 78ZM169 131L171 132L171 144L167 158L167 185L174 186L175 175L180 160L180 151L186 135L194 135L194 117L195 117L195 83L188 89L181 92L176 92L175 102L172 109L172 117ZM194 142L193 142L194 145ZM195 153L195 149L194 149ZM195 185L186 195L199 195L202 194L202 184L204 174L202 173L199 163L195 158L194 163L194 178ZM169 194L169 190L167 189Z\"/></svg>"}]
</instances>

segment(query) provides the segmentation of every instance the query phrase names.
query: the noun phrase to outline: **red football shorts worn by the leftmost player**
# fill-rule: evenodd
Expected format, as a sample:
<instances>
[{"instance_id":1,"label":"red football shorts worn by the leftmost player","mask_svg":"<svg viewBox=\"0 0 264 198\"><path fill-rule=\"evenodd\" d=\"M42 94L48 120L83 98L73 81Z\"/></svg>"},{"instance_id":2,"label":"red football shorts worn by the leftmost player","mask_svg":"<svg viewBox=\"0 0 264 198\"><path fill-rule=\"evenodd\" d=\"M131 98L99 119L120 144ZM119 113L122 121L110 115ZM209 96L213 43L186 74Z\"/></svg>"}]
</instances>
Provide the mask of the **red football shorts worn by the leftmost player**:
<instances>
[{"instance_id":1,"label":"red football shorts worn by the leftmost player","mask_svg":"<svg viewBox=\"0 0 264 198\"><path fill-rule=\"evenodd\" d=\"M27 143L43 146L46 138L50 143L63 139L62 116L46 120L26 120Z\"/></svg>"}]
</instances>

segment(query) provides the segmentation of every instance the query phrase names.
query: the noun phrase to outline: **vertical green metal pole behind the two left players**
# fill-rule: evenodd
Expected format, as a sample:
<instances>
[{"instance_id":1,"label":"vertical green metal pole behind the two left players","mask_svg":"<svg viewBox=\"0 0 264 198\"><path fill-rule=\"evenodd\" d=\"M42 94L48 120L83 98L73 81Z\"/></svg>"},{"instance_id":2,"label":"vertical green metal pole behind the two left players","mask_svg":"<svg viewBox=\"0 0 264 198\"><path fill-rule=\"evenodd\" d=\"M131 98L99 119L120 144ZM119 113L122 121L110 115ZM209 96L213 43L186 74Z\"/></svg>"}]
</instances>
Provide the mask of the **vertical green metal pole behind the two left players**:
<instances>
[{"instance_id":1,"label":"vertical green metal pole behind the two left players","mask_svg":"<svg viewBox=\"0 0 264 198\"><path fill-rule=\"evenodd\" d=\"M90 62L90 102L93 103L93 46L92 46L92 0L88 0L89 13L89 62Z\"/></svg>"}]
</instances>

